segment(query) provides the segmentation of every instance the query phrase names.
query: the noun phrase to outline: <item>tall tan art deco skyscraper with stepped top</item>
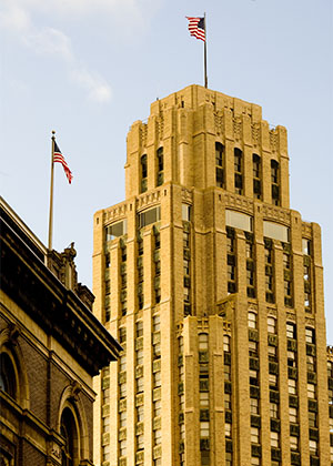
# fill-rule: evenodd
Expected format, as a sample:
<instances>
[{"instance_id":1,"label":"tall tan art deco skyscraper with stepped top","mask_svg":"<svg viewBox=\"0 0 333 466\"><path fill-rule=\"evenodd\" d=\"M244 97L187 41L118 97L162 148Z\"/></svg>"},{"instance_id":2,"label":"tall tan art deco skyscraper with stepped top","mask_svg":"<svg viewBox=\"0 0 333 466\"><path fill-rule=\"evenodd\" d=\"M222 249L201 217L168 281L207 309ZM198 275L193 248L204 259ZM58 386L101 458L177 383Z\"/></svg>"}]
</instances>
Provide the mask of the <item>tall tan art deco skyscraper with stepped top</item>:
<instances>
[{"instance_id":1,"label":"tall tan art deco skyscraper with stepped top","mask_svg":"<svg viewBox=\"0 0 333 466\"><path fill-rule=\"evenodd\" d=\"M93 293L124 348L95 381L97 464L331 464L321 231L259 105L190 85L132 124Z\"/></svg>"}]
</instances>

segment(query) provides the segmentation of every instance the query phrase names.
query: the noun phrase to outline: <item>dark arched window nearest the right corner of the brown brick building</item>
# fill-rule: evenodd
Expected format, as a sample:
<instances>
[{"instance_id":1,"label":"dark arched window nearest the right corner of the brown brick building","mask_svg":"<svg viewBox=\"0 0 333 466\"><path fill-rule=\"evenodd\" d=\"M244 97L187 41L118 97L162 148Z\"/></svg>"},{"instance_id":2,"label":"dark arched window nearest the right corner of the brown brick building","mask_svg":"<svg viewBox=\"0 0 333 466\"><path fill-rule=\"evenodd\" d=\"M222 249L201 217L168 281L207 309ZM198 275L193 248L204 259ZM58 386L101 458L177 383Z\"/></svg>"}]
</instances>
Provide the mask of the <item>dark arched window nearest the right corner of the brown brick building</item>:
<instances>
[{"instance_id":1,"label":"dark arched window nearest the right corner of the brown brick building","mask_svg":"<svg viewBox=\"0 0 333 466\"><path fill-rule=\"evenodd\" d=\"M60 434L64 438L62 447L61 466L79 464L79 437L73 412L65 407L61 415Z\"/></svg>"}]
</instances>

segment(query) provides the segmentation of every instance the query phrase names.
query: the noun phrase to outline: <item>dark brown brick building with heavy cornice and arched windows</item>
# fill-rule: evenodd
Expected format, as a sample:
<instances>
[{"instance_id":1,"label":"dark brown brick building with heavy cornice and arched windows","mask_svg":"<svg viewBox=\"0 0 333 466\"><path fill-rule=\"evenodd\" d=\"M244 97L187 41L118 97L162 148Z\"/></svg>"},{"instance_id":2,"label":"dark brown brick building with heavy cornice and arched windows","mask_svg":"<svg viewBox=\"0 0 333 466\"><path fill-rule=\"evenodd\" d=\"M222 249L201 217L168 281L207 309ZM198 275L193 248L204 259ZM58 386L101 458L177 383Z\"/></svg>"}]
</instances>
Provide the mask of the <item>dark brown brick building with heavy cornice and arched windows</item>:
<instances>
[{"instance_id":1,"label":"dark brown brick building with heavy cornice and arched windows","mask_svg":"<svg viewBox=\"0 0 333 466\"><path fill-rule=\"evenodd\" d=\"M92 465L92 377L121 347L77 282L73 245L48 254L0 201L0 464Z\"/></svg>"}]
</instances>

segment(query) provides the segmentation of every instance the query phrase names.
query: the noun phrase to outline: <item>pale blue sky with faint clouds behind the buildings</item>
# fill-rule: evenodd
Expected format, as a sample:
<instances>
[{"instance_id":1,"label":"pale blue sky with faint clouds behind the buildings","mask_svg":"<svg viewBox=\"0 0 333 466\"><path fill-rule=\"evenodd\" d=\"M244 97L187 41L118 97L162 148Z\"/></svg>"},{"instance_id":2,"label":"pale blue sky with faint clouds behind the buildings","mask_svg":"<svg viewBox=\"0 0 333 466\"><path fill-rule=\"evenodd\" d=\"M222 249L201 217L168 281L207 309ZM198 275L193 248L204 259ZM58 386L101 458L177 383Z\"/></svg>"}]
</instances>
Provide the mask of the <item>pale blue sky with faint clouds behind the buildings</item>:
<instances>
[{"instance_id":1,"label":"pale blue sky with faint clouds behind the buildings","mask_svg":"<svg viewBox=\"0 0 333 466\"><path fill-rule=\"evenodd\" d=\"M48 243L51 131L72 173L54 173L53 247L72 241L92 286L92 217L124 200L125 138L150 104L203 84L262 107L289 134L291 207L322 227L333 344L332 0L1 0L0 194Z\"/></svg>"}]
</instances>

